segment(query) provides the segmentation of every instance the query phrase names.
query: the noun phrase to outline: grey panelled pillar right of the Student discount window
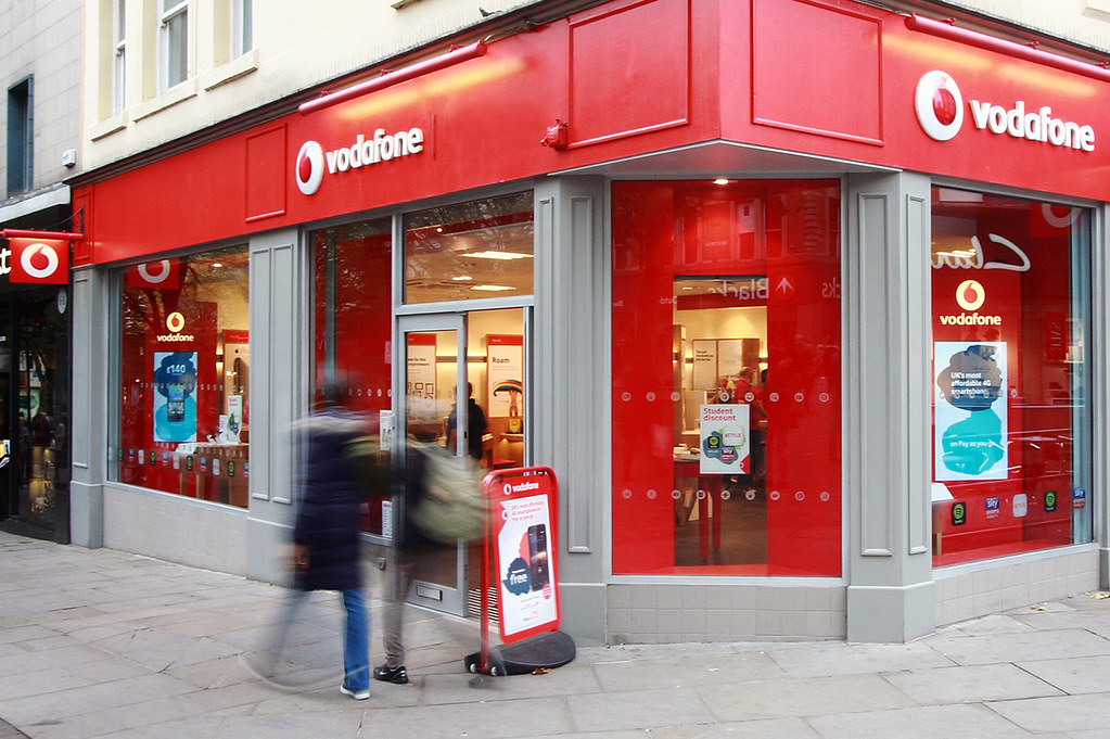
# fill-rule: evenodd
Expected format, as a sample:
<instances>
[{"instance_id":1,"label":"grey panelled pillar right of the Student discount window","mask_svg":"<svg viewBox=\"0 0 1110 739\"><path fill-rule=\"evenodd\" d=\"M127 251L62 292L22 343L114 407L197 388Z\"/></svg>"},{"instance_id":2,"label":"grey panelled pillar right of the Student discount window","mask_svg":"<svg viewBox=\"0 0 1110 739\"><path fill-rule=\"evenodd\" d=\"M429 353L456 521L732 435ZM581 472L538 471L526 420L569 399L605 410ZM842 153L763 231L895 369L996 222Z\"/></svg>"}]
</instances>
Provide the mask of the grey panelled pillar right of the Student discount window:
<instances>
[{"instance_id":1,"label":"grey panelled pillar right of the Student discount window","mask_svg":"<svg viewBox=\"0 0 1110 739\"><path fill-rule=\"evenodd\" d=\"M936 628L929 179L852 175L847 199L848 640L900 642Z\"/></svg>"}]
</instances>

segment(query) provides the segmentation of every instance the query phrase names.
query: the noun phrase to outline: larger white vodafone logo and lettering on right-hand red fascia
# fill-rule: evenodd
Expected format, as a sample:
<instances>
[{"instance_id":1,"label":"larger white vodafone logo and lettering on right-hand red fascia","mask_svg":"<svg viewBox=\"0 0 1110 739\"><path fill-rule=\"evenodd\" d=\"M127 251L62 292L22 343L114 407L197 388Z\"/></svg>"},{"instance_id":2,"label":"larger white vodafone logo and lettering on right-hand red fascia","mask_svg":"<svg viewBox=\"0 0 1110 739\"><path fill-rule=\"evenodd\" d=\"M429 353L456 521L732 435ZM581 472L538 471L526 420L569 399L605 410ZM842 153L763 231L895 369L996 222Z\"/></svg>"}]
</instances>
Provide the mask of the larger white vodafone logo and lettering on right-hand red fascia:
<instances>
[{"instance_id":1,"label":"larger white vodafone logo and lettering on right-hand red fascia","mask_svg":"<svg viewBox=\"0 0 1110 739\"><path fill-rule=\"evenodd\" d=\"M921 130L935 141L950 141L970 123L978 131L1012 139L1025 139L1038 145L1094 151L1094 129L1052 114L1051 105L1029 104L1023 100L998 104L969 99L956 79L947 72L932 70L918 80L914 109Z\"/></svg>"}]
</instances>

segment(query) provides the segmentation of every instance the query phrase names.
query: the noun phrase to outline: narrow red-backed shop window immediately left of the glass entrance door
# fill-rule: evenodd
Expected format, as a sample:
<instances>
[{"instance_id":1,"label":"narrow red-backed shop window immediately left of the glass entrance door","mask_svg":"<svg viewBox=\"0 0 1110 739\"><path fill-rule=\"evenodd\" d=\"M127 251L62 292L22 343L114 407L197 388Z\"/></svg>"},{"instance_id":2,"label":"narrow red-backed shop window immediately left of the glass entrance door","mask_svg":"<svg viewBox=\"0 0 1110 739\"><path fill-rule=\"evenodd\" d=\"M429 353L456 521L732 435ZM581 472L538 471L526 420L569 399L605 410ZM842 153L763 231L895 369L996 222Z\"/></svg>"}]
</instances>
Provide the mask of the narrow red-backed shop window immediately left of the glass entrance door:
<instances>
[{"instance_id":1,"label":"narrow red-backed shop window immediately left of the glass entrance door","mask_svg":"<svg viewBox=\"0 0 1110 739\"><path fill-rule=\"evenodd\" d=\"M389 464L393 428L392 244L389 217L312 234L314 378L346 382L347 405L365 415L383 464ZM389 496L373 498L364 528L383 535L384 526L389 535L390 510Z\"/></svg>"}]
</instances>

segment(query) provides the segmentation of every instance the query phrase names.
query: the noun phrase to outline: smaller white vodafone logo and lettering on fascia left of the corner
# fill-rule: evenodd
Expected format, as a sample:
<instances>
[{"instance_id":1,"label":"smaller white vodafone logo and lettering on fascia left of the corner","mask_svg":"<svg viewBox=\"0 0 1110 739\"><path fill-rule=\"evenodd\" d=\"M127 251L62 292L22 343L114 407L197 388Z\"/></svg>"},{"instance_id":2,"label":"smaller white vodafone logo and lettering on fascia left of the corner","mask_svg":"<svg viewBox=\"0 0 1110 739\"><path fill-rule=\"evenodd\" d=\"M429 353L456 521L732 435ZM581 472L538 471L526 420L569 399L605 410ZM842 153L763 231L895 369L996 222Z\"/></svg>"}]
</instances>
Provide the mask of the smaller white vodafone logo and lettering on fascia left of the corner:
<instances>
[{"instance_id":1,"label":"smaller white vodafone logo and lettering on fascia left of the corner","mask_svg":"<svg viewBox=\"0 0 1110 739\"><path fill-rule=\"evenodd\" d=\"M294 164L296 186L305 195L313 195L320 190L325 174L361 170L423 151L424 131L418 128L396 133L377 129L371 136L360 133L350 145L331 151L324 151L316 141L305 141L296 154Z\"/></svg>"}]
</instances>

